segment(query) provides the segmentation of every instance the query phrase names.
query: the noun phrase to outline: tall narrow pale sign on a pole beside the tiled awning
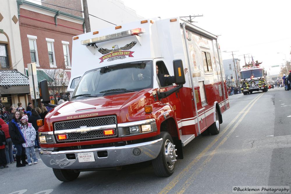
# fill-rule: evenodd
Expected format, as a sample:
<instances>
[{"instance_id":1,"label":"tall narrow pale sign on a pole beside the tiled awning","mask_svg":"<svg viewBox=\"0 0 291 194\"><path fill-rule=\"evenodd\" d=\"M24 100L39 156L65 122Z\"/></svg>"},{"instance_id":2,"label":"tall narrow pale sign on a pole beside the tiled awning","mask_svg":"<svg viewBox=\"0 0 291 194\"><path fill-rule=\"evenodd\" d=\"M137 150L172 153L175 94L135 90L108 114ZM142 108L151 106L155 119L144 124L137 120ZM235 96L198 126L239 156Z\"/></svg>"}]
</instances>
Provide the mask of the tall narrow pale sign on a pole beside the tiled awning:
<instances>
[{"instance_id":1,"label":"tall narrow pale sign on a pole beside the tiled awning","mask_svg":"<svg viewBox=\"0 0 291 194\"><path fill-rule=\"evenodd\" d=\"M28 67L28 78L29 78L29 89L31 99L39 99L38 80L36 75L36 63L27 64Z\"/></svg>"}]
</instances>

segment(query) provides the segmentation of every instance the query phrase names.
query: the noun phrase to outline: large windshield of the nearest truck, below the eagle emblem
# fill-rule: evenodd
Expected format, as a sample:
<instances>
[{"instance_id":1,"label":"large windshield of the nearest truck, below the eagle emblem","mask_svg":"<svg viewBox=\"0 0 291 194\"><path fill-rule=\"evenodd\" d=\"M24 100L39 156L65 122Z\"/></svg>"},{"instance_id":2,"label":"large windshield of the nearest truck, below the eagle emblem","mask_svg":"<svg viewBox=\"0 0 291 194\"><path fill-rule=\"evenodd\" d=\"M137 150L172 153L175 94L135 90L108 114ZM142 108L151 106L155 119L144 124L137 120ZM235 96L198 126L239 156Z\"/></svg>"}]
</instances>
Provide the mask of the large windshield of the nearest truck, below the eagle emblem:
<instances>
[{"instance_id":1,"label":"large windshield of the nearest truck, below the eagle emblem","mask_svg":"<svg viewBox=\"0 0 291 194\"><path fill-rule=\"evenodd\" d=\"M152 85L152 61L122 63L86 72L72 98L99 97L109 92L134 92L152 88Z\"/></svg>"}]
</instances>

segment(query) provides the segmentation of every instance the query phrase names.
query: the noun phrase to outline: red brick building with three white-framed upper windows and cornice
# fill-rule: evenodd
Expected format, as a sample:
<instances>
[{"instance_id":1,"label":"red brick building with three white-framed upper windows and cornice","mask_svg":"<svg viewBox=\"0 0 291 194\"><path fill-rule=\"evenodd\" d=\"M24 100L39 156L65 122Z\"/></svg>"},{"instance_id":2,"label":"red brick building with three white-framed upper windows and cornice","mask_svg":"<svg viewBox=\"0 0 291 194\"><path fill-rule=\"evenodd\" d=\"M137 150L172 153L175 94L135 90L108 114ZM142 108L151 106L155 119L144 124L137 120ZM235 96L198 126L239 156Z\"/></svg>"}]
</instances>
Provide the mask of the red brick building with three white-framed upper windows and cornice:
<instances>
[{"instance_id":1,"label":"red brick building with three white-framed upper windows and cornice","mask_svg":"<svg viewBox=\"0 0 291 194\"><path fill-rule=\"evenodd\" d=\"M72 37L84 33L84 18L29 1L19 0L17 4L25 73L27 64L35 62L38 81L48 80L51 95L66 91Z\"/></svg>"}]
</instances>

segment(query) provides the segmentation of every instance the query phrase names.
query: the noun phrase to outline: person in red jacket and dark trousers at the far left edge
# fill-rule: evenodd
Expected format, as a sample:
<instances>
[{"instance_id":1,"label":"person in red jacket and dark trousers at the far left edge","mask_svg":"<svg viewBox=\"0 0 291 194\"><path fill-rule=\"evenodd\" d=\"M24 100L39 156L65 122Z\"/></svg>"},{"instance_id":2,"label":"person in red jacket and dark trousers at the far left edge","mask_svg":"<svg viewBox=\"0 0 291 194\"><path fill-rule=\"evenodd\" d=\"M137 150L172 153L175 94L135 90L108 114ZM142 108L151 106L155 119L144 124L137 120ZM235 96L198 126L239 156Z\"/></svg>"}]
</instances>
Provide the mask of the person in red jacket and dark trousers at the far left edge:
<instances>
[{"instance_id":1,"label":"person in red jacket and dark trousers at the far left edge","mask_svg":"<svg viewBox=\"0 0 291 194\"><path fill-rule=\"evenodd\" d=\"M3 119L0 119L0 125L1 125L1 129L4 131L5 133L5 137L6 137L6 142L7 145L5 146L5 154L6 154L6 160L7 160L7 164L12 164L14 163L14 159L13 159L13 143L12 140L10 138L9 135L9 127L8 124L6 124L5 121L3 121Z\"/></svg>"}]
</instances>

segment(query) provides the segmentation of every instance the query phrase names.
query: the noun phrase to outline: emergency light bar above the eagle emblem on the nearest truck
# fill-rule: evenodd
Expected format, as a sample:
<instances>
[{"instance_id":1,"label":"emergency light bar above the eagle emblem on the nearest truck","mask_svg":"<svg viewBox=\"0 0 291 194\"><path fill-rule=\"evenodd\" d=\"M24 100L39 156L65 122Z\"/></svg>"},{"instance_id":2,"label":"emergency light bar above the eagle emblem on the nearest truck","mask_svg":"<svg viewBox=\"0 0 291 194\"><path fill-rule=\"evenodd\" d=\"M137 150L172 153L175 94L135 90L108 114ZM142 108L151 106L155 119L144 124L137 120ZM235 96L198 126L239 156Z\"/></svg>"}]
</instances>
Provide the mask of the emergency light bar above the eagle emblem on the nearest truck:
<instances>
[{"instance_id":1,"label":"emergency light bar above the eagle emblem on the nearest truck","mask_svg":"<svg viewBox=\"0 0 291 194\"><path fill-rule=\"evenodd\" d=\"M82 40L81 43L82 43L82 45L88 45L91 43L104 42L107 40L113 40L116 38L122 38L122 37L126 37L126 36L131 36L131 35L139 35L142 33L145 33L143 28L136 28L136 29L127 30L127 31L118 32L118 33L113 33L113 34L108 34L108 35L104 35L104 36L100 36L100 37L96 37L96 38L91 38L88 40Z\"/></svg>"}]
</instances>

